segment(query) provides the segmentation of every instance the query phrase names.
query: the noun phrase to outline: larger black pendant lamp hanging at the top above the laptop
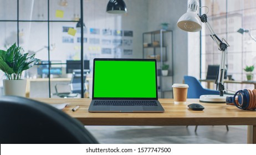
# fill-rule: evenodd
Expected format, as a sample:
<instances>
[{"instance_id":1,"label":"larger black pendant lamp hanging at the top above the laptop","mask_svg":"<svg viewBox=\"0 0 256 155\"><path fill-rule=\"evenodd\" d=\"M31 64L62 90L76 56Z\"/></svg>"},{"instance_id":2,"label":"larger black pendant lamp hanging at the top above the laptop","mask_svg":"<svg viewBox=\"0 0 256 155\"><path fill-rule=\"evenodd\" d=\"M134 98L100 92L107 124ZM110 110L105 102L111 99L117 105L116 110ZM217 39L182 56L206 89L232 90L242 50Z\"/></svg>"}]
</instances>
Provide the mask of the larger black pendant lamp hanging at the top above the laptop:
<instances>
[{"instance_id":1,"label":"larger black pendant lamp hanging at the top above the laptop","mask_svg":"<svg viewBox=\"0 0 256 155\"><path fill-rule=\"evenodd\" d=\"M126 5L123 0L109 0L106 8L107 13L126 13Z\"/></svg>"}]
</instances>

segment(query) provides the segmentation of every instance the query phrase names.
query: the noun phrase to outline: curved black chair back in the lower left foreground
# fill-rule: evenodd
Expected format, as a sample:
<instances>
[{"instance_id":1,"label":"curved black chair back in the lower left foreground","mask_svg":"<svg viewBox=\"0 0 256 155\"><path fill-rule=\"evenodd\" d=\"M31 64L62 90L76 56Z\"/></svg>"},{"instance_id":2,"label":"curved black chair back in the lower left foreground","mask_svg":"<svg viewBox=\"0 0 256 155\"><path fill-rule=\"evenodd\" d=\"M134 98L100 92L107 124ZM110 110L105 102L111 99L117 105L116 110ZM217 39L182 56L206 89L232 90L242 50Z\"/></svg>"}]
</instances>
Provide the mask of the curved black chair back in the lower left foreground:
<instances>
[{"instance_id":1,"label":"curved black chair back in the lower left foreground","mask_svg":"<svg viewBox=\"0 0 256 155\"><path fill-rule=\"evenodd\" d=\"M0 143L98 143L57 108L18 96L0 98Z\"/></svg>"}]
</instances>

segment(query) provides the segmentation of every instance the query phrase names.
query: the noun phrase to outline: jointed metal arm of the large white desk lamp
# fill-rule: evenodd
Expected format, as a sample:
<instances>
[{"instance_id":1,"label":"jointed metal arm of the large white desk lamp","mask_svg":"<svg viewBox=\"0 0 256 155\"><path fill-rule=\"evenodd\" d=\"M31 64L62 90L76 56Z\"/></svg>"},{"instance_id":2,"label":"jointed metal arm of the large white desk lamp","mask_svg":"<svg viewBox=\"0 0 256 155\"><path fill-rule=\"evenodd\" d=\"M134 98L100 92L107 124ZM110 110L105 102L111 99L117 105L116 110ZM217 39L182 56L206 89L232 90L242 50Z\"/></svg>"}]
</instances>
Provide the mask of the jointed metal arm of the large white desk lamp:
<instances>
[{"instance_id":1,"label":"jointed metal arm of the large white desk lamp","mask_svg":"<svg viewBox=\"0 0 256 155\"><path fill-rule=\"evenodd\" d=\"M198 15L199 16L199 15ZM229 44L225 39L219 39L217 35L214 33L211 25L207 22L207 16L206 14L203 14L202 16L199 16L201 21L206 24L207 28L209 29L211 33L211 37L214 40L214 42L218 45L218 49L222 51L222 58L221 58L221 65L219 65L219 73L218 73L218 81L216 80L216 89L219 91L219 96L224 95L224 69L226 64L226 56L227 56L227 47ZM224 42L225 43L224 43Z\"/></svg>"}]
</instances>

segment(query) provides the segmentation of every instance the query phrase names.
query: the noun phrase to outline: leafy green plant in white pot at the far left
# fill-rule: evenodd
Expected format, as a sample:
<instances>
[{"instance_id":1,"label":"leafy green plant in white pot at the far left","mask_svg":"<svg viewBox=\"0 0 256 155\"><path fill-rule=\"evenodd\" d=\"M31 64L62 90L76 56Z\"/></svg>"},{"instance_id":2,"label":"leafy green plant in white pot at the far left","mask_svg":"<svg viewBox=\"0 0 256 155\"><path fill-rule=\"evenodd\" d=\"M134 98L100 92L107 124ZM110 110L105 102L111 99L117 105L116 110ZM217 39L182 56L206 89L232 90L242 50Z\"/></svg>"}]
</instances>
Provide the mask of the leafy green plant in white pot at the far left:
<instances>
[{"instance_id":1,"label":"leafy green plant in white pot at the far left","mask_svg":"<svg viewBox=\"0 0 256 155\"><path fill-rule=\"evenodd\" d=\"M0 70L7 76L7 79L3 80L5 95L25 97L27 80L22 80L22 72L39 61L34 56L35 54L28 56L28 53L25 53L16 43L7 51L0 50Z\"/></svg>"}]
</instances>

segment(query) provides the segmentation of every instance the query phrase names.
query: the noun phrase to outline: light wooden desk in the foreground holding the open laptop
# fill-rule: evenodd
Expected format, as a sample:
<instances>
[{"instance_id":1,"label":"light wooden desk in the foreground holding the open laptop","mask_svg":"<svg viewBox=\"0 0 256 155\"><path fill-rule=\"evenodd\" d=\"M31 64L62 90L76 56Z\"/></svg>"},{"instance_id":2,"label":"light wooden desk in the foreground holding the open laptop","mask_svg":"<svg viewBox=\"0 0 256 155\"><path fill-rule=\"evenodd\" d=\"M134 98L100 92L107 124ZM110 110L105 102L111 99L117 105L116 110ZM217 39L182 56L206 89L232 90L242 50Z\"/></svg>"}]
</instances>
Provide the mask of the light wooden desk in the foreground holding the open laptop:
<instances>
[{"instance_id":1,"label":"light wooden desk in the foreground holding the open laptop","mask_svg":"<svg viewBox=\"0 0 256 155\"><path fill-rule=\"evenodd\" d=\"M38 99L48 104L70 103L64 108L84 125L187 126L187 125L249 125L248 143L256 143L256 111L244 111L226 104L202 104L203 111L192 111L187 105L198 102L188 99L186 105L175 105L173 99L160 99L164 113L89 113L90 99ZM79 105L73 112L71 109Z\"/></svg>"}]
</instances>

